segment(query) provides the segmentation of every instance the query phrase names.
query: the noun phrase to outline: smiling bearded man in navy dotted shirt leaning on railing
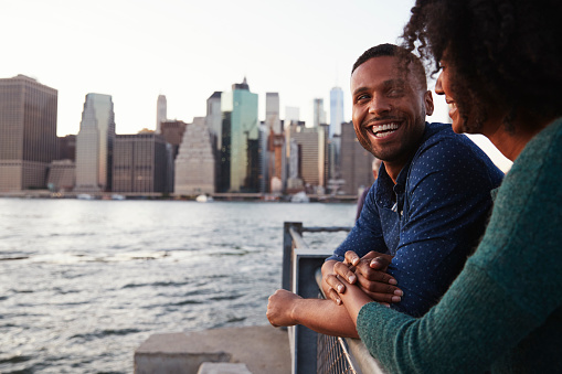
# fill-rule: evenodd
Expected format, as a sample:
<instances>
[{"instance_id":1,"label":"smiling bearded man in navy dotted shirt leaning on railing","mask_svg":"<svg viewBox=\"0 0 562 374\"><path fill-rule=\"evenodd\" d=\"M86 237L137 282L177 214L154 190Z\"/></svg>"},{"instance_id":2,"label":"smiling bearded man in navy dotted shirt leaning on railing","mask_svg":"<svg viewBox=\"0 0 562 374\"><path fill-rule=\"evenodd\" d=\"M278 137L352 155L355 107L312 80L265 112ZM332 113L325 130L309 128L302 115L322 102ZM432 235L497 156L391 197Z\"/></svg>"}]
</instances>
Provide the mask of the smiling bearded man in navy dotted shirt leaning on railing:
<instances>
[{"instance_id":1,"label":"smiling bearded man in navy dotted shirt leaning on railing","mask_svg":"<svg viewBox=\"0 0 562 374\"><path fill-rule=\"evenodd\" d=\"M391 44L368 50L351 74L352 119L361 145L383 161L361 215L322 266L330 300L278 290L269 298L274 325L304 324L357 336L340 306L338 279L358 284L373 300L423 316L448 288L478 243L502 173L433 114L425 70ZM375 253L377 252L377 253Z\"/></svg>"}]
</instances>

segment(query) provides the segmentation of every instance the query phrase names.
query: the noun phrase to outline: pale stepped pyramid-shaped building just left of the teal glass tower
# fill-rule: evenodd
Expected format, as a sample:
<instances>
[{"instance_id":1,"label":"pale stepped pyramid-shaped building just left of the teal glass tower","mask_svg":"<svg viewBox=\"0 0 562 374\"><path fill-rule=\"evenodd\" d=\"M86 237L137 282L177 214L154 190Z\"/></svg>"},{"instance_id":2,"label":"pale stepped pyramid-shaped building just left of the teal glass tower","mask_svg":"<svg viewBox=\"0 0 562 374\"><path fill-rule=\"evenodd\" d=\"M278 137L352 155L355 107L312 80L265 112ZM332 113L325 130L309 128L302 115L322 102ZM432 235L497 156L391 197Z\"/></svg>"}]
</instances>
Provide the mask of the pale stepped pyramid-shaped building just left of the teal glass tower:
<instances>
[{"instance_id":1,"label":"pale stepped pyramid-shaped building just left of the teal glass tower","mask_svg":"<svg viewBox=\"0 0 562 374\"><path fill-rule=\"evenodd\" d=\"M193 118L176 158L176 195L212 194L215 188L215 161L211 132L205 117Z\"/></svg>"}]
</instances>

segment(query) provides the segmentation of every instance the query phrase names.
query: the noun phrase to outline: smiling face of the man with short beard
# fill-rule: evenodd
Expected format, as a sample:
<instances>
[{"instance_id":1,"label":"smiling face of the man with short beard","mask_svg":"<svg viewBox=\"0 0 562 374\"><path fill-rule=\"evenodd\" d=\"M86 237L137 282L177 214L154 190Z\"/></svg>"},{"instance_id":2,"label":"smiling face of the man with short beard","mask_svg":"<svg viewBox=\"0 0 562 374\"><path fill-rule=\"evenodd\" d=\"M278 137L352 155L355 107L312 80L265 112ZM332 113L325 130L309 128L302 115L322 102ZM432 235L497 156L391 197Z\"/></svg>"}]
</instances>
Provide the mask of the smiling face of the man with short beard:
<instances>
[{"instance_id":1,"label":"smiling face of the man with short beard","mask_svg":"<svg viewBox=\"0 0 562 374\"><path fill-rule=\"evenodd\" d=\"M425 115L433 113L431 92L420 79L395 56L370 58L351 75L357 137L388 163L407 161L423 136Z\"/></svg>"}]
</instances>

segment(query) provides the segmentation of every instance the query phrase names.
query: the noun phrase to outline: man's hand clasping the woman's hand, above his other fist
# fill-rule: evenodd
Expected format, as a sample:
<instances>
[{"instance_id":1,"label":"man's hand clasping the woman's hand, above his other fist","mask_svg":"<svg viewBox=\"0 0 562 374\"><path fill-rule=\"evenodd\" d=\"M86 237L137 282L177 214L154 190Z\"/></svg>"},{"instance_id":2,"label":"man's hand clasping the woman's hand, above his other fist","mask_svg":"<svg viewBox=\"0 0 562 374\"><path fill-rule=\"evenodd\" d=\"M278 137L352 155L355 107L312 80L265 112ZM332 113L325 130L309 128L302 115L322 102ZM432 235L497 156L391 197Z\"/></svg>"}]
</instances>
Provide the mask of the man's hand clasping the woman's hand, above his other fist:
<instances>
[{"instance_id":1,"label":"man's hand clasping the woman's hand, above his other fist","mask_svg":"<svg viewBox=\"0 0 562 374\"><path fill-rule=\"evenodd\" d=\"M349 284L357 284L370 298L382 303L400 302L403 295L396 285L396 279L386 274L392 256L370 252L360 258L354 252L347 252L343 263L333 261L330 264L332 271L322 266L322 287L325 293L331 300L341 304L338 295L346 291L346 285L337 276L342 277ZM329 261L327 261L329 263ZM325 264L326 265L326 264ZM326 286L324 285L326 284ZM326 288L329 288L326 292Z\"/></svg>"}]
</instances>

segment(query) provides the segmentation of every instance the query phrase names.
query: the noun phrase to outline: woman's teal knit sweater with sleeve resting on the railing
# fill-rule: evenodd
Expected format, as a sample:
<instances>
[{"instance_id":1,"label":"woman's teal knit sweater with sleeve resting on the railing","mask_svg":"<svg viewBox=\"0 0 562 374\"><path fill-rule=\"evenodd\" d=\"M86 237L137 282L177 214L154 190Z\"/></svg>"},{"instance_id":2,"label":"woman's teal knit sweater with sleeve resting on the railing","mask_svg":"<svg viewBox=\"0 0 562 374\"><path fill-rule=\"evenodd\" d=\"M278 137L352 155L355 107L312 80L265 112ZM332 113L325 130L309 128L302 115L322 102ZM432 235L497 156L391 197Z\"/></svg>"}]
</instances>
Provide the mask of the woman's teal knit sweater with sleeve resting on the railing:
<instances>
[{"instance_id":1,"label":"woman's teal knit sweater with sleeve resting on the railing","mask_svg":"<svg viewBox=\"0 0 562 374\"><path fill-rule=\"evenodd\" d=\"M483 372L560 311L562 127L552 127L513 163L483 242L437 306L421 319L361 309L358 332L389 372Z\"/></svg>"}]
</instances>

